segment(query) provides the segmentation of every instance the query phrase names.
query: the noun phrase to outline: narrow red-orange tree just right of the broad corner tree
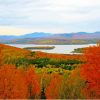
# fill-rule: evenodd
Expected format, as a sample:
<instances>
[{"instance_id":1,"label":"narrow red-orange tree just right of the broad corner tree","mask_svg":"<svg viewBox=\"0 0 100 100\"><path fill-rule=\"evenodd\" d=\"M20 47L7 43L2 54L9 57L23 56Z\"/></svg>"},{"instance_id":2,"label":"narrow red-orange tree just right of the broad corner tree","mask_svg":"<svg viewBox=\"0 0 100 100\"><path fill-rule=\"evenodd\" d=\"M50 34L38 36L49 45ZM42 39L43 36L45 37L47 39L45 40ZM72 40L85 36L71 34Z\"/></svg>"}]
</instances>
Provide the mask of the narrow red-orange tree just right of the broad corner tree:
<instances>
[{"instance_id":1,"label":"narrow red-orange tree just right of the broad corner tree","mask_svg":"<svg viewBox=\"0 0 100 100\"><path fill-rule=\"evenodd\" d=\"M39 98L41 92L39 78L35 73L33 66L29 67L27 70L26 81L29 88L30 98Z\"/></svg>"}]
</instances>

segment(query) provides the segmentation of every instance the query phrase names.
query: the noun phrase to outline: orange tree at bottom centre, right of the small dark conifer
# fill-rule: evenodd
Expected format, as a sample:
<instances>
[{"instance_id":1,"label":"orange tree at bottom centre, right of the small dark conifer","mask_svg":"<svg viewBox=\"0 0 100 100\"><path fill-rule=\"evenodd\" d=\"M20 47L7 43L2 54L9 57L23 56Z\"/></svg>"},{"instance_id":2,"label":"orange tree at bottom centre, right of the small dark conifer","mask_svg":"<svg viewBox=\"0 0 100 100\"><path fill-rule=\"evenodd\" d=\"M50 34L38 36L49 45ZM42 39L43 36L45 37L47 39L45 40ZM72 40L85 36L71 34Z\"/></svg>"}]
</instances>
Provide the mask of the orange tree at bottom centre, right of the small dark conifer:
<instances>
[{"instance_id":1,"label":"orange tree at bottom centre, right of the small dark conifer","mask_svg":"<svg viewBox=\"0 0 100 100\"><path fill-rule=\"evenodd\" d=\"M47 99L60 99L61 86L62 86L62 76L53 75L50 84L46 89L46 98Z\"/></svg>"}]
</instances>

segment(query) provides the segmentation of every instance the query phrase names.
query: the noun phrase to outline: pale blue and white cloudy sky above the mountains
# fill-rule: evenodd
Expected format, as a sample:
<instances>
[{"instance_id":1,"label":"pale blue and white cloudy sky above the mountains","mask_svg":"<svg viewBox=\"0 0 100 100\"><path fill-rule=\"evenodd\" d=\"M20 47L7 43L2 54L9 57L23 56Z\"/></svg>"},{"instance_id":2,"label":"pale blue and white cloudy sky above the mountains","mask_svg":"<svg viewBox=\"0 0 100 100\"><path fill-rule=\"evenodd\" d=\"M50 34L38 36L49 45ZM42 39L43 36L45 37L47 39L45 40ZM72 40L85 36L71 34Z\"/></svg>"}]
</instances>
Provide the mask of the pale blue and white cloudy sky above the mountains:
<instances>
[{"instance_id":1,"label":"pale blue and white cloudy sky above the mountains","mask_svg":"<svg viewBox=\"0 0 100 100\"><path fill-rule=\"evenodd\" d=\"M100 31L100 0L0 0L0 35Z\"/></svg>"}]
</instances>

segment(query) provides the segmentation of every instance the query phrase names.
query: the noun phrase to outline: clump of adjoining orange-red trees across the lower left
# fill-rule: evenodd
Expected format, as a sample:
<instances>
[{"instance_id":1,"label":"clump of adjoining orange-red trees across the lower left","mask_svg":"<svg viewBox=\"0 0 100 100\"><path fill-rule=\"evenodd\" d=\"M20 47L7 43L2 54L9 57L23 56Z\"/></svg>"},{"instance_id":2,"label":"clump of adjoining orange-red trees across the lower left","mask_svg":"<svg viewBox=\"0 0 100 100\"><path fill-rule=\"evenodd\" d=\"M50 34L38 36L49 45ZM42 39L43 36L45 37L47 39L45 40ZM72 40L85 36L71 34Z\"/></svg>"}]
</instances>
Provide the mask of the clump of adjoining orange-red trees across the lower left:
<instances>
[{"instance_id":1,"label":"clump of adjoining orange-red trees across the lower left","mask_svg":"<svg viewBox=\"0 0 100 100\"><path fill-rule=\"evenodd\" d=\"M40 94L38 84L32 68L26 72L16 69L14 65L4 65L0 68L0 99L35 98L35 94Z\"/></svg>"}]
</instances>

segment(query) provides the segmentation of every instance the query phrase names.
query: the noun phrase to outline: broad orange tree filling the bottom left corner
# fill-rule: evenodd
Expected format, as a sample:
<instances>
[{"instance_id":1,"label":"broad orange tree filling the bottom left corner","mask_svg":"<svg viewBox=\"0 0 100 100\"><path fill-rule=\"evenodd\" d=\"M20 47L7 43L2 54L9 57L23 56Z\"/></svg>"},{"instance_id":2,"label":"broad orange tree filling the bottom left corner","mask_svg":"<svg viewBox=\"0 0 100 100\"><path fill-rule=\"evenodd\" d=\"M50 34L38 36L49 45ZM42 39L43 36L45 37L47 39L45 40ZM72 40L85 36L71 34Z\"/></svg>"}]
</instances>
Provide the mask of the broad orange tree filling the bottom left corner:
<instances>
[{"instance_id":1,"label":"broad orange tree filling the bottom left corner","mask_svg":"<svg viewBox=\"0 0 100 100\"><path fill-rule=\"evenodd\" d=\"M0 68L0 99L26 99L28 88L20 70L14 65Z\"/></svg>"}]
</instances>

